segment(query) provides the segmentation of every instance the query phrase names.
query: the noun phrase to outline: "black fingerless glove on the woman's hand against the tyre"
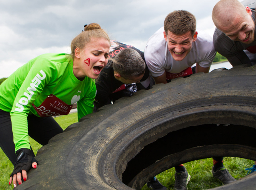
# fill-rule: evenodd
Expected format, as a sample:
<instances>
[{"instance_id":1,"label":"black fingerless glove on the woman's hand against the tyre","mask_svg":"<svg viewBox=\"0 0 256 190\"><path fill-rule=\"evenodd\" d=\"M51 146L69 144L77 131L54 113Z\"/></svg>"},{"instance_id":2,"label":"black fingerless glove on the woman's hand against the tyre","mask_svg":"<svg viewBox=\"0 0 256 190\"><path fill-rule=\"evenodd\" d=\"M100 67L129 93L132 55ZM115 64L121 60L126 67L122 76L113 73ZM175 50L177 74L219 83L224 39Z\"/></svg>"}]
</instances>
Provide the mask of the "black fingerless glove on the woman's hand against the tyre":
<instances>
[{"instance_id":1,"label":"black fingerless glove on the woman's hand against the tyre","mask_svg":"<svg viewBox=\"0 0 256 190\"><path fill-rule=\"evenodd\" d=\"M33 150L22 148L18 149L16 154L18 155L17 161L14 164L14 170L10 177L13 177L13 175L17 174L18 172L22 173L22 170L26 170L28 172L32 163L37 162L37 160L34 158L35 154L33 153Z\"/></svg>"}]
</instances>

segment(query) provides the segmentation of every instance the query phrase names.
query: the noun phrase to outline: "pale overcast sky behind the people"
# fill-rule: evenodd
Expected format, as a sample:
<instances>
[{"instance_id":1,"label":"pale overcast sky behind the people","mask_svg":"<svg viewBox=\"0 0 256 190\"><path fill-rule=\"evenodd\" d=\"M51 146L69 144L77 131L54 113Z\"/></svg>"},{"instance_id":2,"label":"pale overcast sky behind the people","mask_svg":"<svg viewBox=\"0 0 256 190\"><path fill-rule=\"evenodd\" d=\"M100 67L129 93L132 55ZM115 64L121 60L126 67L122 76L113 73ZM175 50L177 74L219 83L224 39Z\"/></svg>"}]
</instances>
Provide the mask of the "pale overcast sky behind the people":
<instances>
[{"instance_id":1,"label":"pale overcast sky behind the people","mask_svg":"<svg viewBox=\"0 0 256 190\"><path fill-rule=\"evenodd\" d=\"M0 0L0 78L43 53L70 53L85 24L99 23L112 40L144 51L166 15L187 10L213 35L219 0Z\"/></svg>"}]
</instances>

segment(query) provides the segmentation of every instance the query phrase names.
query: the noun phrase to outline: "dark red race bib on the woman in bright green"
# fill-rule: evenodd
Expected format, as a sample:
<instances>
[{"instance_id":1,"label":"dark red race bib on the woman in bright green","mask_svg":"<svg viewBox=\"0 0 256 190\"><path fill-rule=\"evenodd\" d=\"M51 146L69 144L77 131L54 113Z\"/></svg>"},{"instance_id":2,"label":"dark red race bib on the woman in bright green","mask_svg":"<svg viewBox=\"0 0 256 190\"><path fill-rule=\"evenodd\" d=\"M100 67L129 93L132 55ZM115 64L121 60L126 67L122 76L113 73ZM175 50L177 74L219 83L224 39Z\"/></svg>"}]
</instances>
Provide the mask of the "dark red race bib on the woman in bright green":
<instances>
[{"instance_id":1,"label":"dark red race bib on the woman in bright green","mask_svg":"<svg viewBox=\"0 0 256 190\"><path fill-rule=\"evenodd\" d=\"M40 106L32 104L40 117L60 116L69 114L73 105L68 105L53 94L50 94Z\"/></svg>"}]
</instances>

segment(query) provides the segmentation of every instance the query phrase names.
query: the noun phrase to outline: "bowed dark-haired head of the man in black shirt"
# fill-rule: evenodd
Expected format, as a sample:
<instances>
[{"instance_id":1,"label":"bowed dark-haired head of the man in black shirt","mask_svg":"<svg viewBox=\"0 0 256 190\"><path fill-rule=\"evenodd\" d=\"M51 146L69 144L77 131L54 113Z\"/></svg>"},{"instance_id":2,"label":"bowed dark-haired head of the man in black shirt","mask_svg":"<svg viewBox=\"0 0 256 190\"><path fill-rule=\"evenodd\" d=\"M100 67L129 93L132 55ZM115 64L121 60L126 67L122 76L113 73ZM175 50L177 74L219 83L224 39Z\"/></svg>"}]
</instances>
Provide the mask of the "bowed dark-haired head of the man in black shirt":
<instances>
[{"instance_id":1,"label":"bowed dark-haired head of the man in black shirt","mask_svg":"<svg viewBox=\"0 0 256 190\"><path fill-rule=\"evenodd\" d=\"M139 83L145 73L146 63L131 48L121 50L112 61L115 78L124 84Z\"/></svg>"}]
</instances>

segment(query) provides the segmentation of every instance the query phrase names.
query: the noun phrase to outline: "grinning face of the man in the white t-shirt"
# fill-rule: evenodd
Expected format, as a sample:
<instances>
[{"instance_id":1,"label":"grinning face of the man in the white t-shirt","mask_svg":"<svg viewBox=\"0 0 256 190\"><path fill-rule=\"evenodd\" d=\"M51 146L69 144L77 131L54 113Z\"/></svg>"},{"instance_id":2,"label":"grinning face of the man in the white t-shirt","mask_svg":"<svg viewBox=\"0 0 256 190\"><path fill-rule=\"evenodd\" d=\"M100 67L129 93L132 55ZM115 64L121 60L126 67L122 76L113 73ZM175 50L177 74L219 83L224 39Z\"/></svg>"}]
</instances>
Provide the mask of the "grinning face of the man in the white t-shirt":
<instances>
[{"instance_id":1,"label":"grinning face of the man in the white t-shirt","mask_svg":"<svg viewBox=\"0 0 256 190\"><path fill-rule=\"evenodd\" d=\"M182 61L189 54L196 38L197 32L193 36L190 31L183 35L176 35L171 31L166 34L164 31L164 39L167 41L169 51L175 61Z\"/></svg>"}]
</instances>

